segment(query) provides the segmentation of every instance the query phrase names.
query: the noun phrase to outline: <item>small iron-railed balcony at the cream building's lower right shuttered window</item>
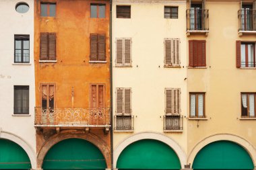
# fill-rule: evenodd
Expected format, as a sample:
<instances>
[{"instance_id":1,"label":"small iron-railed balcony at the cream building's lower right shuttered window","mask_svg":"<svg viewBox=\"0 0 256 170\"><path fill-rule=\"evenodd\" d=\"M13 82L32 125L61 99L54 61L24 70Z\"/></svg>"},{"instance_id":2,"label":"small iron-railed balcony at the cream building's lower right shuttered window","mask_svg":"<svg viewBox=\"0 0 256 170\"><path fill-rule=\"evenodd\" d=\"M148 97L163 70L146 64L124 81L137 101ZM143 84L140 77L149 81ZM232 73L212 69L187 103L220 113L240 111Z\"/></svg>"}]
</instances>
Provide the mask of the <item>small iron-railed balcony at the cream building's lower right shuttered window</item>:
<instances>
[{"instance_id":1,"label":"small iron-railed balcony at the cream building's lower right shuttered window","mask_svg":"<svg viewBox=\"0 0 256 170\"><path fill-rule=\"evenodd\" d=\"M183 116L164 116L164 132L183 132Z\"/></svg>"}]
</instances>

